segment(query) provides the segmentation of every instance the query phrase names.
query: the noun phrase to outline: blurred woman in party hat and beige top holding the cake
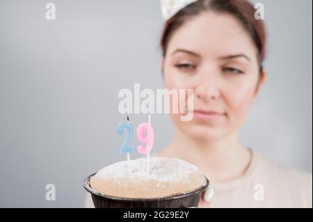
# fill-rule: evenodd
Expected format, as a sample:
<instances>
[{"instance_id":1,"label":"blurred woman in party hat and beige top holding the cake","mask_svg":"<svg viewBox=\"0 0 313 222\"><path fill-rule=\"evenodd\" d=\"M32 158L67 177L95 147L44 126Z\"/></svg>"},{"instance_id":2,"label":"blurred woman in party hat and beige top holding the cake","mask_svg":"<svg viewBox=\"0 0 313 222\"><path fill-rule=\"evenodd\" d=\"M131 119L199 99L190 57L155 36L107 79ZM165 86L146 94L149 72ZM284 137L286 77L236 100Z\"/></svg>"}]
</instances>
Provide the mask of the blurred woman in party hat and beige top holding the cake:
<instances>
[{"instance_id":1,"label":"blurred woman in party hat and beige top holding the cake","mask_svg":"<svg viewBox=\"0 0 313 222\"><path fill-rule=\"evenodd\" d=\"M170 12L163 4L163 12ZM266 79L266 32L246 0L172 1L161 38L165 88L193 89L193 120L171 114L159 157L195 164L210 180L199 207L312 207L312 175L268 161L238 132ZM187 3L186 3L187 2ZM187 99L187 98L186 98ZM187 102L185 102L186 104ZM205 198L204 198L205 199Z\"/></svg>"}]
</instances>

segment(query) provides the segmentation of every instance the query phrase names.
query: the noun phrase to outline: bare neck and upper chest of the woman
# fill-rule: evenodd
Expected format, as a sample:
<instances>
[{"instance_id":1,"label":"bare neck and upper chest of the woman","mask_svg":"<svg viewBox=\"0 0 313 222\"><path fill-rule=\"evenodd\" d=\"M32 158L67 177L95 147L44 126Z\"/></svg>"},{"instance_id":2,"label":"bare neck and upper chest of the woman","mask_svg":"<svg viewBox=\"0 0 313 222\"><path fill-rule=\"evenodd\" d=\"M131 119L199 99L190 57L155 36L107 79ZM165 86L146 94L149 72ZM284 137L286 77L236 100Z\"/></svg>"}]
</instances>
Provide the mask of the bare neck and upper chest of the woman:
<instances>
[{"instance_id":1,"label":"bare neck and upper chest of the woman","mask_svg":"<svg viewBox=\"0 0 313 222\"><path fill-rule=\"evenodd\" d=\"M177 157L198 166L213 182L240 177L248 168L250 150L239 143L238 134L215 141L190 138L179 129L172 142L159 152L160 157Z\"/></svg>"}]
</instances>

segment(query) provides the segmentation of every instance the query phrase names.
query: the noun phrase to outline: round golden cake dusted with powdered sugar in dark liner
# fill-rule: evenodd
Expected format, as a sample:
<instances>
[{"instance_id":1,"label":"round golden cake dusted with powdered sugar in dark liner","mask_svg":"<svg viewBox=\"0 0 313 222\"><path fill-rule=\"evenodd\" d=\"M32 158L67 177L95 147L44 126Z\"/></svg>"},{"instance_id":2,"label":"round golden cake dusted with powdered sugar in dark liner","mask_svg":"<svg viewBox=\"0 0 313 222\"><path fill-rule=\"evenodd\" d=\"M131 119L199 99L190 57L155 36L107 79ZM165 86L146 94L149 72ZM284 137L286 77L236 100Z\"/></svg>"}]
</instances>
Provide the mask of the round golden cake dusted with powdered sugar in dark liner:
<instances>
[{"instance_id":1,"label":"round golden cake dusted with powdered sugar in dark liner","mask_svg":"<svg viewBox=\"0 0 313 222\"><path fill-rule=\"evenodd\" d=\"M203 186L205 177L193 164L176 158L120 161L102 168L90 178L90 187L106 196L163 198Z\"/></svg>"}]
</instances>

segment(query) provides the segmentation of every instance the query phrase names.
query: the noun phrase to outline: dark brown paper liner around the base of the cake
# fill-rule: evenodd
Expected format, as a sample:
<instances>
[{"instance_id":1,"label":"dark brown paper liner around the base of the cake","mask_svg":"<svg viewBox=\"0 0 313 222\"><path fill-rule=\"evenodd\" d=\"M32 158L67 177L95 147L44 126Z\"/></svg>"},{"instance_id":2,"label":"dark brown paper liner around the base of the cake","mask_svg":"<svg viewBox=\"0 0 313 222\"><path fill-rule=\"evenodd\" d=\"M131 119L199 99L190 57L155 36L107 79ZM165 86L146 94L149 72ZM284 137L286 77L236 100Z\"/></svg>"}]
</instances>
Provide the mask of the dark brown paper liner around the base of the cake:
<instances>
[{"instance_id":1,"label":"dark brown paper liner around the base of the cake","mask_svg":"<svg viewBox=\"0 0 313 222\"><path fill-rule=\"evenodd\" d=\"M95 173L93 174L95 175ZM209 187L209 180L204 177L205 182L201 187L186 193L177 193L163 198L119 198L108 196L95 191L90 187L90 178L83 180L83 187L91 193L93 204L96 208L181 208L198 207L202 193Z\"/></svg>"}]
</instances>

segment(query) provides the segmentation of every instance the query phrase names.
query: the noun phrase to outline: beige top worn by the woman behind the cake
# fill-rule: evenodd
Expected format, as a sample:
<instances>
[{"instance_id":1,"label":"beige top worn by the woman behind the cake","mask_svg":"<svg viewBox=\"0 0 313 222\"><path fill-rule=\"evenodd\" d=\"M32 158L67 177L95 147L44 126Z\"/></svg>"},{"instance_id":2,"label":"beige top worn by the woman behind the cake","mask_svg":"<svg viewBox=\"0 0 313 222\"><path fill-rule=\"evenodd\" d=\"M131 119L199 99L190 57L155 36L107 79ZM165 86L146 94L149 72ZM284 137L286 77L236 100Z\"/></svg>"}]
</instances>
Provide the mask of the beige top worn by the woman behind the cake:
<instances>
[{"instance_id":1,"label":"beige top worn by the woman behind the cake","mask_svg":"<svg viewBox=\"0 0 313 222\"><path fill-rule=\"evenodd\" d=\"M246 173L229 182L211 182L210 207L312 207L312 175L252 154ZM86 207L93 207L88 194Z\"/></svg>"}]
</instances>

